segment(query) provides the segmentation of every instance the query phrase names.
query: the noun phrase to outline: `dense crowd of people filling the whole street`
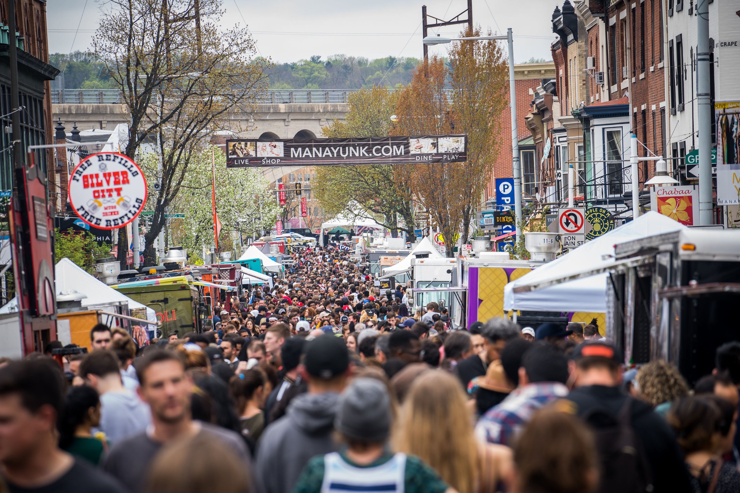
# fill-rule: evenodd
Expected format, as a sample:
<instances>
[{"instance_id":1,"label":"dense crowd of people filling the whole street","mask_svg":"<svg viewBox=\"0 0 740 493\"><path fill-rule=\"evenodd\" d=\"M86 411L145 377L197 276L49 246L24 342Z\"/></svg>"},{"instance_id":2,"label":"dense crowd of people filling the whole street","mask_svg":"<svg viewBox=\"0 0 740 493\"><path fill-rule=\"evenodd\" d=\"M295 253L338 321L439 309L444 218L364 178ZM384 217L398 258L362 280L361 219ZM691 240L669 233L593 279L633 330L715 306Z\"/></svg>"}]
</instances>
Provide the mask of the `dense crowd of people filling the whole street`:
<instances>
[{"instance_id":1,"label":"dense crowd of people filling the whole street","mask_svg":"<svg viewBox=\"0 0 740 493\"><path fill-rule=\"evenodd\" d=\"M0 361L0 492L740 491L740 343L692 388L593 323L407 301L307 248L203 333Z\"/></svg>"}]
</instances>

